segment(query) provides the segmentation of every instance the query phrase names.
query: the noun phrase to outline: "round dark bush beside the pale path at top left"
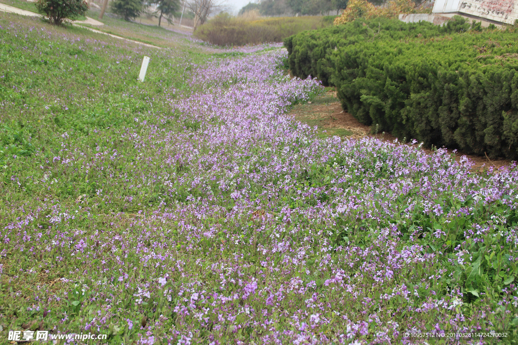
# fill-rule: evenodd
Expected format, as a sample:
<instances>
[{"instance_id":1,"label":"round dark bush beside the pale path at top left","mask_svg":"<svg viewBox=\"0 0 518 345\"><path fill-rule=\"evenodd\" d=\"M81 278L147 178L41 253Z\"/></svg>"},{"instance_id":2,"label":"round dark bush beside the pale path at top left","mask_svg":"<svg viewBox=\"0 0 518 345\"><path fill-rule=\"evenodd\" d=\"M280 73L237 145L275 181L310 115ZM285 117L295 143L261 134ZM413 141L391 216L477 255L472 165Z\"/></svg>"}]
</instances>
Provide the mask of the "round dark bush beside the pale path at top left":
<instances>
[{"instance_id":1,"label":"round dark bush beside the pale path at top left","mask_svg":"<svg viewBox=\"0 0 518 345\"><path fill-rule=\"evenodd\" d=\"M61 25L65 19L74 20L84 16L88 4L84 0L38 0L36 9L49 18L54 25Z\"/></svg>"}]
</instances>

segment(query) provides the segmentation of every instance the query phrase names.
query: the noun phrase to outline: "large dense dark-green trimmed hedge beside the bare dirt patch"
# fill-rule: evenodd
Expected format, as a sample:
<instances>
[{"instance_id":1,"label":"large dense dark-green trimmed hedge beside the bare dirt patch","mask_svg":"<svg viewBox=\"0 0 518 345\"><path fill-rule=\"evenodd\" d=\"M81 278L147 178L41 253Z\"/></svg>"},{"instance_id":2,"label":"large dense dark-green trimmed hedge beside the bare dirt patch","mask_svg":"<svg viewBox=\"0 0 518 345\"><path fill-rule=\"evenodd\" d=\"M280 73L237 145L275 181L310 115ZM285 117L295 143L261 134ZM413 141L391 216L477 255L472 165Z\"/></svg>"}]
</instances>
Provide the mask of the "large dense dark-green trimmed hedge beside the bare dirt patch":
<instances>
[{"instance_id":1,"label":"large dense dark-green trimmed hedge beside the bare dirt patch","mask_svg":"<svg viewBox=\"0 0 518 345\"><path fill-rule=\"evenodd\" d=\"M381 29L373 35L376 21ZM392 23L401 29L383 36L389 21L337 26L342 36L323 40L308 54L302 51L312 40L300 41L308 33L292 36L285 42L290 68L336 86L342 108L378 131L427 146L518 158L516 33L448 34L466 31L461 20L442 28ZM352 34L344 39L343 33Z\"/></svg>"}]
</instances>

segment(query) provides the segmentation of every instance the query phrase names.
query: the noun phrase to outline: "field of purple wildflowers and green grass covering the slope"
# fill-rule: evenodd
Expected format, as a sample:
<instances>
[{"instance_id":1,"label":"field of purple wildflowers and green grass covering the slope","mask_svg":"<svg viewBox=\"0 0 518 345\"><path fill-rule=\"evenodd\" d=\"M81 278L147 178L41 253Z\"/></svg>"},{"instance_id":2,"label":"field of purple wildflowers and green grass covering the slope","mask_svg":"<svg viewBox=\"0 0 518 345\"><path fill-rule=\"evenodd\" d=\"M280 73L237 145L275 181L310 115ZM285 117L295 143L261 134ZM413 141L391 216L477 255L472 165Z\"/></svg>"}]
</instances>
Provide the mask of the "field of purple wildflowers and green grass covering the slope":
<instances>
[{"instance_id":1,"label":"field of purple wildflowers and green grass covering the slope","mask_svg":"<svg viewBox=\"0 0 518 345\"><path fill-rule=\"evenodd\" d=\"M515 341L515 165L322 139L287 110L323 87L278 45L210 57L2 16L2 341Z\"/></svg>"}]
</instances>

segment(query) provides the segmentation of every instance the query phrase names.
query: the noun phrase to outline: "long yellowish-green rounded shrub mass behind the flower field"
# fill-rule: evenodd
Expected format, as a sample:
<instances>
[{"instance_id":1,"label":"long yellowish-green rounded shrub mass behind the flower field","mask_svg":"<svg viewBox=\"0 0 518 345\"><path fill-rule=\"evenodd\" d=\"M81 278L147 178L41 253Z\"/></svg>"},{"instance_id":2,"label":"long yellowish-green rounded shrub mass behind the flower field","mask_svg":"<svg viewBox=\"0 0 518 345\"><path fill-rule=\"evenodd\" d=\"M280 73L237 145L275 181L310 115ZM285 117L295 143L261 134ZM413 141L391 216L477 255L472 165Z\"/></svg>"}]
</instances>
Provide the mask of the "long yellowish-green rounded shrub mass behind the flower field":
<instances>
[{"instance_id":1,"label":"long yellowish-green rounded shrub mass behind the flower field","mask_svg":"<svg viewBox=\"0 0 518 345\"><path fill-rule=\"evenodd\" d=\"M233 17L221 13L206 24L199 26L194 36L218 46L244 46L267 42L282 42L284 38L301 31L331 25L326 17L275 17L261 18L245 13Z\"/></svg>"}]
</instances>

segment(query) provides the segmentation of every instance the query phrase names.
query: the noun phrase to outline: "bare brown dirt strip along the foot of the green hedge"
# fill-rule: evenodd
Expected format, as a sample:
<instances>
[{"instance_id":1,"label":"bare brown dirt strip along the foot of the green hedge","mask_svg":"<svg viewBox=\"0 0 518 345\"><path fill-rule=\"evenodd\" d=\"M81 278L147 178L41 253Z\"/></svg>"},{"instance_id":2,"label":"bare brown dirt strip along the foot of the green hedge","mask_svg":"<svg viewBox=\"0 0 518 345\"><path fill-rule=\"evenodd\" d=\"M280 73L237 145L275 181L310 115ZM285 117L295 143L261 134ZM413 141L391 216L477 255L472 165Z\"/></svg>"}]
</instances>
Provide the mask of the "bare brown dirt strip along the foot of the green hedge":
<instances>
[{"instance_id":1,"label":"bare brown dirt strip along the foot of the green hedge","mask_svg":"<svg viewBox=\"0 0 518 345\"><path fill-rule=\"evenodd\" d=\"M310 126L318 126L320 130L325 130L327 135L337 135L343 138L358 139L363 137L373 137L385 141L394 142L396 137L390 133L371 134L370 127L358 122L351 114L342 110L340 102L336 98L336 92L328 91L323 96L315 99L311 103L299 104L290 112L296 119L305 122ZM432 153L429 148L423 148L425 152ZM453 154L453 150L448 150ZM464 154L457 151L455 157L461 159ZM474 155L466 155L475 163L472 170L484 171L490 167L498 169L509 166L512 161L509 159L489 159Z\"/></svg>"}]
</instances>

